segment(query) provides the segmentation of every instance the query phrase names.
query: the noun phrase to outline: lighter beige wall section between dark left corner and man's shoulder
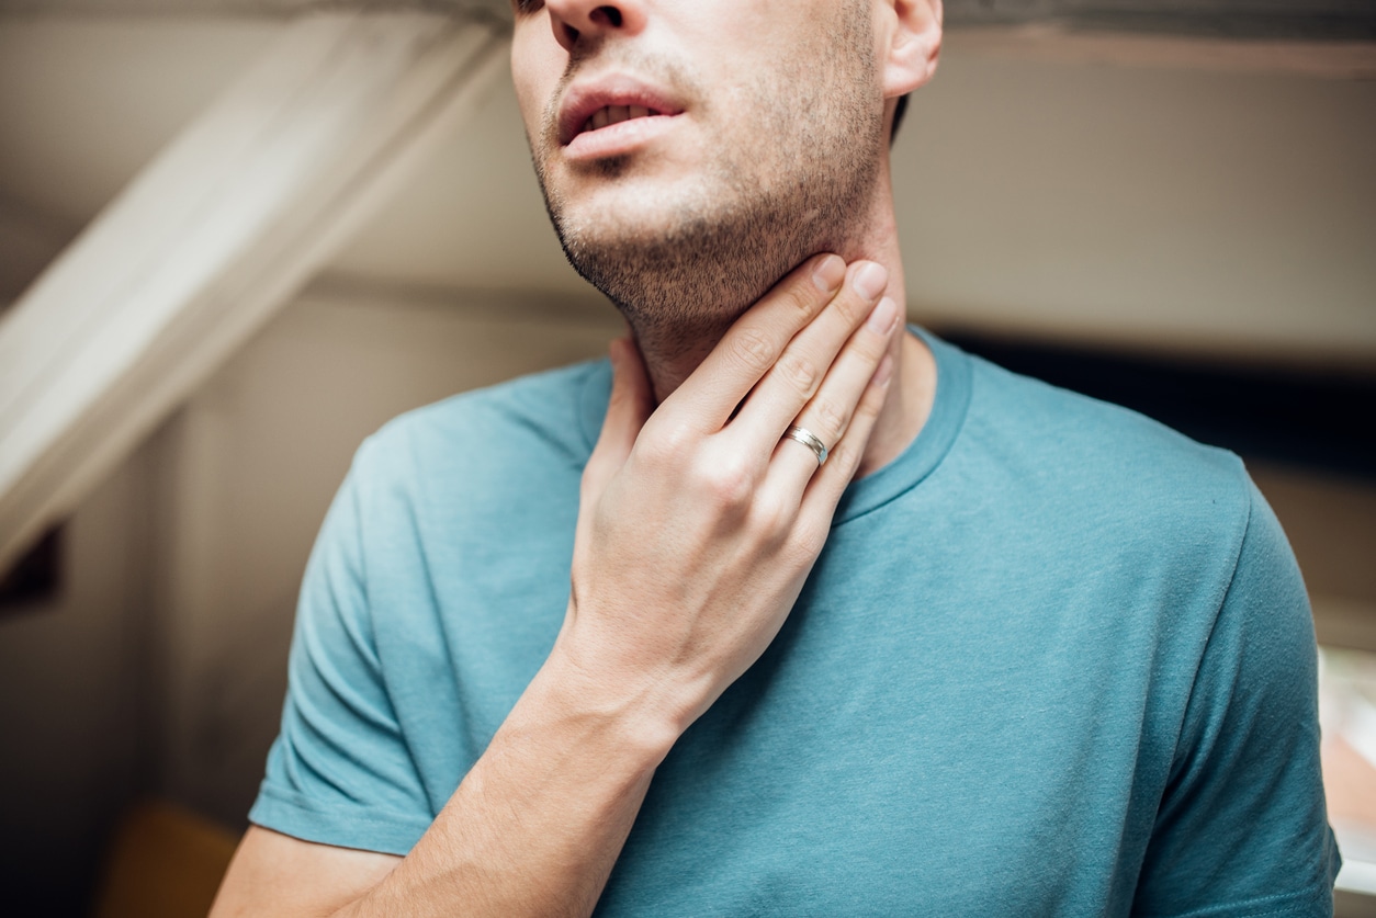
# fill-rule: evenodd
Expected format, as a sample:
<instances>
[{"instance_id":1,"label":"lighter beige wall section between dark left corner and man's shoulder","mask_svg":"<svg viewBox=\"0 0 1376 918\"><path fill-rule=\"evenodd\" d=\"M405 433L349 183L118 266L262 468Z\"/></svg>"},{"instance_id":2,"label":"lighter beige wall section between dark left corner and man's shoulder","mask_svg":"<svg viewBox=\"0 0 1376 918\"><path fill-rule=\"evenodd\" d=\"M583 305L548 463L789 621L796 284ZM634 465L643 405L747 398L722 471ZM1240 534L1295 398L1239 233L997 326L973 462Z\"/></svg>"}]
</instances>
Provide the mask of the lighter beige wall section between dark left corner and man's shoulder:
<instances>
[{"instance_id":1,"label":"lighter beige wall section between dark left corner and man's shoulder","mask_svg":"<svg viewBox=\"0 0 1376 918\"><path fill-rule=\"evenodd\" d=\"M358 443L406 409L597 356L619 328L588 301L308 293L191 399L158 482L176 798L244 819L277 729L301 570Z\"/></svg>"}]
</instances>

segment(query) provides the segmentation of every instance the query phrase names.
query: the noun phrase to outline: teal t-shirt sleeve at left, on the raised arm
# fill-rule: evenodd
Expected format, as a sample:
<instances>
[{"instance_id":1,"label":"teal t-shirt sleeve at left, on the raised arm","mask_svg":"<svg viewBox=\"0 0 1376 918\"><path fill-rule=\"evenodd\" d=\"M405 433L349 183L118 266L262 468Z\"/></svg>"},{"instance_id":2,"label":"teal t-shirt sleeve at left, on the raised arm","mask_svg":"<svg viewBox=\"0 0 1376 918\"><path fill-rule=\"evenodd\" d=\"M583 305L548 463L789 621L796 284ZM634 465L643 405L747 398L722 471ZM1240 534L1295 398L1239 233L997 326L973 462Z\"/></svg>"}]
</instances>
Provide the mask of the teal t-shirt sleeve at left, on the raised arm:
<instances>
[{"instance_id":1,"label":"teal t-shirt sleeve at left, on the raised arm","mask_svg":"<svg viewBox=\"0 0 1376 918\"><path fill-rule=\"evenodd\" d=\"M282 728L249 820L305 841L405 855L432 815L369 615L358 494L365 450L305 568Z\"/></svg>"}]
</instances>

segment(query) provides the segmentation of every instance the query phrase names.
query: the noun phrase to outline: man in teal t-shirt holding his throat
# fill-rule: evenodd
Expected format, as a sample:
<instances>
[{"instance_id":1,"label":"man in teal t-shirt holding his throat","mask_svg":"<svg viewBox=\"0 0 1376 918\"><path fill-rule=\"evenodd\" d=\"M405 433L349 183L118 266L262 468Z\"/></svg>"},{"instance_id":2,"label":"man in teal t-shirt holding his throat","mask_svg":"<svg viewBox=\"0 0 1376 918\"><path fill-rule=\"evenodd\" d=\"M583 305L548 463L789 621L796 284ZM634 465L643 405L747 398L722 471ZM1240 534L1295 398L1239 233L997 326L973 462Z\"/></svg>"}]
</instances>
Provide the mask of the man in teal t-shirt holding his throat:
<instances>
[{"instance_id":1,"label":"man in teal t-shirt holding his throat","mask_svg":"<svg viewBox=\"0 0 1376 918\"><path fill-rule=\"evenodd\" d=\"M940 18L517 3L632 340L359 451L216 914L1331 911L1313 630L1241 464L899 328Z\"/></svg>"}]
</instances>

